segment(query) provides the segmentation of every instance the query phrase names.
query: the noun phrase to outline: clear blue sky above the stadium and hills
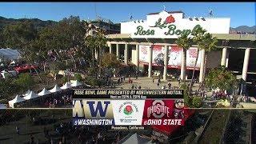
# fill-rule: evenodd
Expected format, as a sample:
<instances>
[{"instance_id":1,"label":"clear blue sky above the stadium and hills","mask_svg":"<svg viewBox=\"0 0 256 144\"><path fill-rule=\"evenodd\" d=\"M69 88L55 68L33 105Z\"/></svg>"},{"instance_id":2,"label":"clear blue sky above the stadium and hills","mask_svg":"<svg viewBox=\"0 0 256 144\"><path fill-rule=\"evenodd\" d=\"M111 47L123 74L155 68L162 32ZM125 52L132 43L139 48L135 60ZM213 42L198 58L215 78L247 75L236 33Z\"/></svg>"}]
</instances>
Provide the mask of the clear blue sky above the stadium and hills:
<instances>
[{"instance_id":1,"label":"clear blue sky above the stadium and hills","mask_svg":"<svg viewBox=\"0 0 256 144\"><path fill-rule=\"evenodd\" d=\"M185 17L230 18L230 26L255 26L256 2L0 2L0 16L59 21L70 15L95 19L96 14L112 22L146 19L146 14L182 10Z\"/></svg>"}]
</instances>

